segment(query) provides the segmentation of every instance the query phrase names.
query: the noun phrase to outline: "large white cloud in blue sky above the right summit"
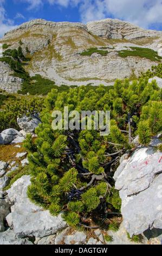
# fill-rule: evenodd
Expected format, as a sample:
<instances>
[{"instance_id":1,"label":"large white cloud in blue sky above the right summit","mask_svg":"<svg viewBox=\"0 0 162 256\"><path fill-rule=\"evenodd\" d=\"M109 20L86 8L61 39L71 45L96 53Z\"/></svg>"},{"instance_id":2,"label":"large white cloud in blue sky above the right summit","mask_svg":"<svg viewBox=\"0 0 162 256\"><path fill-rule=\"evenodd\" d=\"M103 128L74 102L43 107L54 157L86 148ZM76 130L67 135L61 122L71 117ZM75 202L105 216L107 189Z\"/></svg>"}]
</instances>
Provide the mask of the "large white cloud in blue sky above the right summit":
<instances>
[{"instance_id":1,"label":"large white cloud in blue sky above the right summit","mask_svg":"<svg viewBox=\"0 0 162 256\"><path fill-rule=\"evenodd\" d=\"M129 21L143 28L162 23L161 0L94 0L80 5L81 22L113 17Z\"/></svg>"}]
</instances>

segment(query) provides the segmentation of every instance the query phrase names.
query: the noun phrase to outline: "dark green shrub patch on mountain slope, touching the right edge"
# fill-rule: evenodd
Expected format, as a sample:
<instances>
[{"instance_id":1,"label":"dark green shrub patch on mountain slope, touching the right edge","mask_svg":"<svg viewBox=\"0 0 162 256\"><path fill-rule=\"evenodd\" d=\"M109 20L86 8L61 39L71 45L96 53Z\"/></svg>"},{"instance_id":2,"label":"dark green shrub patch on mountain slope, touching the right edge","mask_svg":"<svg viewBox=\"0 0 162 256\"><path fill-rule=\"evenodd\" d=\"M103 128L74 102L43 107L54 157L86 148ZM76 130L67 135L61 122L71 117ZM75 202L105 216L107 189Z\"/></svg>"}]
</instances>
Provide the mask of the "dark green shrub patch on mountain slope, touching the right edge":
<instances>
[{"instance_id":1,"label":"dark green shrub patch on mountain slope, touching the right edge","mask_svg":"<svg viewBox=\"0 0 162 256\"><path fill-rule=\"evenodd\" d=\"M125 58L128 56L135 56L140 58L147 58L152 61L160 62L162 57L158 56L158 52L153 51L149 48L142 48L142 47L129 47L131 50L121 50L118 51L119 57Z\"/></svg>"}]
</instances>

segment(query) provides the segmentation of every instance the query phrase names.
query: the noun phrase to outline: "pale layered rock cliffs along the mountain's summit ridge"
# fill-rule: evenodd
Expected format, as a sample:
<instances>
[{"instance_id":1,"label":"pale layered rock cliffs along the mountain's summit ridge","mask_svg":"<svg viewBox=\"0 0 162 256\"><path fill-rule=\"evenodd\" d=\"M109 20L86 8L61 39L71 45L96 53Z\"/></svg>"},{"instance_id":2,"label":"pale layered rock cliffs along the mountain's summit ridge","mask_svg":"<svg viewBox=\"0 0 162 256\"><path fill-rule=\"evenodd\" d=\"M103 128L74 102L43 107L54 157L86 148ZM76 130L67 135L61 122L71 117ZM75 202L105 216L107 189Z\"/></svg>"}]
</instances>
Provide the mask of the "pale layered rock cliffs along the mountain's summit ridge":
<instances>
[{"instance_id":1,"label":"pale layered rock cliffs along the mountain's summit ridge","mask_svg":"<svg viewBox=\"0 0 162 256\"><path fill-rule=\"evenodd\" d=\"M121 21L118 19L104 19L100 21L90 21L87 25L79 22L52 22L43 19L36 19L33 21L25 22L18 26L14 30L5 34L6 38L12 38L15 33L21 35L24 32L31 31L35 26L37 28L46 28L46 33L55 33L56 29L66 28L66 27L77 27L84 29L85 31L92 32L94 35L106 36L108 39L139 39L149 36L161 35L160 31L152 31L142 29L137 25L133 25L130 22ZM52 34L52 33L51 33Z\"/></svg>"}]
</instances>

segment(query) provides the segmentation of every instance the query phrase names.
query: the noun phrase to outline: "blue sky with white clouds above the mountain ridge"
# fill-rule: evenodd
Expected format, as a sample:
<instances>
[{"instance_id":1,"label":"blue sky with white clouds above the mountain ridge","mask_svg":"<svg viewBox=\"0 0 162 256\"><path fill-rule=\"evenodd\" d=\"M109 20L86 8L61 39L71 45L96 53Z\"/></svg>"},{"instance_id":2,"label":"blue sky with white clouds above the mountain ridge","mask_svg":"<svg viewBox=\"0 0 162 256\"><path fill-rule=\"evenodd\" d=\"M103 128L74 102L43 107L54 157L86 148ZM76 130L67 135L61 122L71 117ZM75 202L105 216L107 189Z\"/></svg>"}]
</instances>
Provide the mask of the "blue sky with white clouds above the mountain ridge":
<instances>
[{"instance_id":1,"label":"blue sky with white clouds above the mountain ridge","mask_svg":"<svg viewBox=\"0 0 162 256\"><path fill-rule=\"evenodd\" d=\"M0 38L35 19L86 24L106 18L162 30L162 0L0 0Z\"/></svg>"}]
</instances>

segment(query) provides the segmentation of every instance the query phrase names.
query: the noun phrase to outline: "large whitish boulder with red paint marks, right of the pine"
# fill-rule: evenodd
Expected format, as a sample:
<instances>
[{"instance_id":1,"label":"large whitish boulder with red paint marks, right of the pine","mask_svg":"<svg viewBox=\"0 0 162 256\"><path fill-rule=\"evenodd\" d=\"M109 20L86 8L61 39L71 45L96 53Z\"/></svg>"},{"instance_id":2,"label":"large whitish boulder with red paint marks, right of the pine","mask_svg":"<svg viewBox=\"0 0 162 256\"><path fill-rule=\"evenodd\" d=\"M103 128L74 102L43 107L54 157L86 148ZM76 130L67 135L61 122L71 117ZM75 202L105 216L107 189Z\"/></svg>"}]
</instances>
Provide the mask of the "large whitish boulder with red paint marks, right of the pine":
<instances>
[{"instance_id":1,"label":"large whitish boulder with red paint marks, right of the pine","mask_svg":"<svg viewBox=\"0 0 162 256\"><path fill-rule=\"evenodd\" d=\"M148 228L162 229L162 153L138 147L115 172L122 199L121 214L130 236Z\"/></svg>"}]
</instances>

